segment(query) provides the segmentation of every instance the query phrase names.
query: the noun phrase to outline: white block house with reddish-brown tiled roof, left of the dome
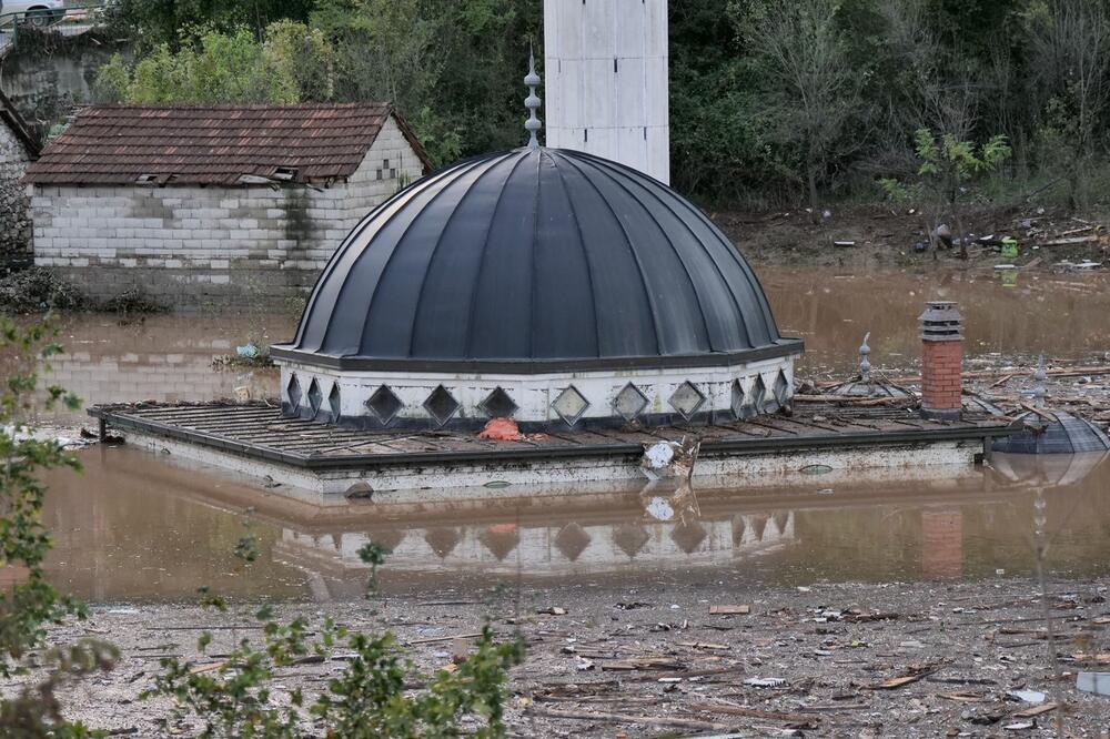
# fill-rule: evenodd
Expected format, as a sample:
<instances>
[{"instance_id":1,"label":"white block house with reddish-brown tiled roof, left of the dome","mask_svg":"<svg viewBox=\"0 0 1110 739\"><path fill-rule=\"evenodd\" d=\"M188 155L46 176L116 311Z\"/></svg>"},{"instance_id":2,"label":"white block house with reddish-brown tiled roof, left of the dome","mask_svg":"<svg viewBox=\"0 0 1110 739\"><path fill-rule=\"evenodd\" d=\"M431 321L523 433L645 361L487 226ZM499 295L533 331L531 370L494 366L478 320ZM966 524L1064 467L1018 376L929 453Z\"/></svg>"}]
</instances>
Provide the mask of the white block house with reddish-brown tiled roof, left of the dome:
<instances>
[{"instance_id":1,"label":"white block house with reddish-brown tiled roof, left of the dome","mask_svg":"<svg viewBox=\"0 0 1110 739\"><path fill-rule=\"evenodd\" d=\"M389 103L88 108L27 169L34 262L102 300L272 306L427 168Z\"/></svg>"}]
</instances>

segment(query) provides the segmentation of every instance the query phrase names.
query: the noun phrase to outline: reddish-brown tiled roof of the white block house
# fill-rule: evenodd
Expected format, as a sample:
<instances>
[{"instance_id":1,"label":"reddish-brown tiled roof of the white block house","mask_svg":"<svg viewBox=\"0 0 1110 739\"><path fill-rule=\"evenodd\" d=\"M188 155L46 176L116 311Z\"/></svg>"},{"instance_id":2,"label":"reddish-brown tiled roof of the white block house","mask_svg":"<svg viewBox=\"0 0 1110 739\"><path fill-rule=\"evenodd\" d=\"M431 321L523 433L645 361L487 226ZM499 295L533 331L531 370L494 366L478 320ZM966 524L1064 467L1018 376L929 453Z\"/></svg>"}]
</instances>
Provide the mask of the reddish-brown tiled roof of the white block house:
<instances>
[{"instance_id":1,"label":"reddish-brown tiled roof of the white block house","mask_svg":"<svg viewBox=\"0 0 1110 739\"><path fill-rule=\"evenodd\" d=\"M343 180L393 118L390 103L98 105L82 110L27 170L32 184L202 184Z\"/></svg>"}]
</instances>

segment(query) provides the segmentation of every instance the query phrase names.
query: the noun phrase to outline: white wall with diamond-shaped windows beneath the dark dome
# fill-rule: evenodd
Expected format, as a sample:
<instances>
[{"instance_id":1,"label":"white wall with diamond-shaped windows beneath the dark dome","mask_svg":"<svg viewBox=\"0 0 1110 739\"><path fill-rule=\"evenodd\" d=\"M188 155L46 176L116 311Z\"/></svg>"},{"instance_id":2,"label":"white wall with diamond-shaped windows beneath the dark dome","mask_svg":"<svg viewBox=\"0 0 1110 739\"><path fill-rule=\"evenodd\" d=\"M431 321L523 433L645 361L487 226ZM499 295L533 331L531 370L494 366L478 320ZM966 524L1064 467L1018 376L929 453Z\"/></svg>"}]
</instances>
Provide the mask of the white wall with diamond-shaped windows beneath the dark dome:
<instances>
[{"instance_id":1,"label":"white wall with diamond-shaped windows beneath the dark dome","mask_svg":"<svg viewBox=\"0 0 1110 739\"><path fill-rule=\"evenodd\" d=\"M798 354L725 366L543 374L353 372L275 357L286 416L367 429L706 424L789 406ZM441 389L442 388L442 389Z\"/></svg>"}]
</instances>

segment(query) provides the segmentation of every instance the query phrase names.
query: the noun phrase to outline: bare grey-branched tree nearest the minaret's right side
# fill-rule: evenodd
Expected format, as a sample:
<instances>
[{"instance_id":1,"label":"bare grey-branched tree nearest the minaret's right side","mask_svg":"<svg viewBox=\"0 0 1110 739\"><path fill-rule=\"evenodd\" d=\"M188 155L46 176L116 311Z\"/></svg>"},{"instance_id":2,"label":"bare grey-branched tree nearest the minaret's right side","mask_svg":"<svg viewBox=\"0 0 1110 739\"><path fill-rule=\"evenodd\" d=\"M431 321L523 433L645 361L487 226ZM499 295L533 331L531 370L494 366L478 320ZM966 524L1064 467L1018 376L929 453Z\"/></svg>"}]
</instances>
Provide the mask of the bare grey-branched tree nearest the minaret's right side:
<instances>
[{"instance_id":1,"label":"bare grey-branched tree nearest the minaret's right side","mask_svg":"<svg viewBox=\"0 0 1110 739\"><path fill-rule=\"evenodd\" d=\"M810 213L819 216L818 183L831 163L858 145L848 139L860 104L861 80L851 68L837 24L836 0L797 0L747 7L734 3L751 62L767 83L764 120L774 142L799 150Z\"/></svg>"}]
</instances>

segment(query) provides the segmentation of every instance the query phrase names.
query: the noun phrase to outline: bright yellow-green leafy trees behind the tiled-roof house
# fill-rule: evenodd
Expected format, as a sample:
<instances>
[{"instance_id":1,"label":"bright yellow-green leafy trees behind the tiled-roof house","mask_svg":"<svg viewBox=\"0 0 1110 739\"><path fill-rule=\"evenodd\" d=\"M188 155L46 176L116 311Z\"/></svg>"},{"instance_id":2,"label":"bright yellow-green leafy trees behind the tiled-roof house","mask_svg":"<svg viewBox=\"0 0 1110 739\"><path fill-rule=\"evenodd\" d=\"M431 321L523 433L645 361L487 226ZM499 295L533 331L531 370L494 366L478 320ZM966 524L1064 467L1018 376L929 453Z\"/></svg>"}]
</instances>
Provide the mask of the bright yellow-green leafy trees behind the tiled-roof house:
<instances>
[{"instance_id":1,"label":"bright yellow-green leafy trees behind the tiled-roof house","mask_svg":"<svg viewBox=\"0 0 1110 739\"><path fill-rule=\"evenodd\" d=\"M319 30L279 21L256 41L245 27L209 30L174 51L159 44L134 64L117 54L97 75L101 101L295 103L332 97L332 50Z\"/></svg>"}]
</instances>

